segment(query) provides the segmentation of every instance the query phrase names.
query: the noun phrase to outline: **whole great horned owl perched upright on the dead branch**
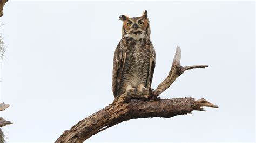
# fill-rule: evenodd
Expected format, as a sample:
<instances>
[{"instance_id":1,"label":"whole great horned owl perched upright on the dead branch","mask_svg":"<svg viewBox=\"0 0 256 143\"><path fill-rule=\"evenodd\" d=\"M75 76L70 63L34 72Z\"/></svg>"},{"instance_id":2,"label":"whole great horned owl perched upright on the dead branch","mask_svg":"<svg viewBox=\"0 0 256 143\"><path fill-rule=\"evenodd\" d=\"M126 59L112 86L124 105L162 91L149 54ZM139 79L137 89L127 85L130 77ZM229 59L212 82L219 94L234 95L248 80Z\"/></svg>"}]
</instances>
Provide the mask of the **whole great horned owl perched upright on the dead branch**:
<instances>
[{"instance_id":1,"label":"whole great horned owl perched upright on the dead branch","mask_svg":"<svg viewBox=\"0 0 256 143\"><path fill-rule=\"evenodd\" d=\"M121 15L122 39L113 59L112 91L114 97L124 92L143 92L151 86L155 67L154 47L150 40L147 11L140 17Z\"/></svg>"}]
</instances>

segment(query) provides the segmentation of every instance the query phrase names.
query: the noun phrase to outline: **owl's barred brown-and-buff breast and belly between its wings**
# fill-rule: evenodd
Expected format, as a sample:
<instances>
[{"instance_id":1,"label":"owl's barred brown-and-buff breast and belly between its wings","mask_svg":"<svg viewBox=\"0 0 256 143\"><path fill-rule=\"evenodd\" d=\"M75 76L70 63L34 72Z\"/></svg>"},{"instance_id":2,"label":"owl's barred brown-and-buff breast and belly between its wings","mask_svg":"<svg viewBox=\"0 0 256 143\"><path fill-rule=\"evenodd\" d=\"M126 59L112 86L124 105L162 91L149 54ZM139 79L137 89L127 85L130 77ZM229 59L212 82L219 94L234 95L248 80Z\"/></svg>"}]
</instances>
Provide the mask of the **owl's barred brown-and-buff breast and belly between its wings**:
<instances>
[{"instance_id":1,"label":"owl's barred brown-and-buff breast and belly between its wings","mask_svg":"<svg viewBox=\"0 0 256 143\"><path fill-rule=\"evenodd\" d=\"M126 87L145 86L148 77L150 58L154 58L154 49L151 41L130 42L123 45L126 48L126 59L120 81L120 91L125 92Z\"/></svg>"}]
</instances>

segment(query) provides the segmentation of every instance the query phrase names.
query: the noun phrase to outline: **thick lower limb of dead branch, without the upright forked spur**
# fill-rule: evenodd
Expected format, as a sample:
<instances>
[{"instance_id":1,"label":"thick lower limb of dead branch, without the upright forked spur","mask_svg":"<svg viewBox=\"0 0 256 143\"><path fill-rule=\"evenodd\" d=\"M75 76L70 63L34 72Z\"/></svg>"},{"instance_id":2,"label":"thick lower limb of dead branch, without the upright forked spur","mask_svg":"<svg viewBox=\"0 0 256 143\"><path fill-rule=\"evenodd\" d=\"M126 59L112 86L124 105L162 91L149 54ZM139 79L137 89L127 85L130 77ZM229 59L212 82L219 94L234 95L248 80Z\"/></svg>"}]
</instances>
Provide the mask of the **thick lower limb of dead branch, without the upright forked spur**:
<instances>
[{"instance_id":1,"label":"thick lower limb of dead branch, without the upright forked spur","mask_svg":"<svg viewBox=\"0 0 256 143\"><path fill-rule=\"evenodd\" d=\"M122 98L119 100L124 101ZM194 101L193 98L160 99L147 102L131 99L128 102L118 102L79 121L70 130L66 130L56 142L83 142L92 135L122 121L149 117L170 118L191 113L193 110L202 110L202 106L204 104Z\"/></svg>"}]
</instances>

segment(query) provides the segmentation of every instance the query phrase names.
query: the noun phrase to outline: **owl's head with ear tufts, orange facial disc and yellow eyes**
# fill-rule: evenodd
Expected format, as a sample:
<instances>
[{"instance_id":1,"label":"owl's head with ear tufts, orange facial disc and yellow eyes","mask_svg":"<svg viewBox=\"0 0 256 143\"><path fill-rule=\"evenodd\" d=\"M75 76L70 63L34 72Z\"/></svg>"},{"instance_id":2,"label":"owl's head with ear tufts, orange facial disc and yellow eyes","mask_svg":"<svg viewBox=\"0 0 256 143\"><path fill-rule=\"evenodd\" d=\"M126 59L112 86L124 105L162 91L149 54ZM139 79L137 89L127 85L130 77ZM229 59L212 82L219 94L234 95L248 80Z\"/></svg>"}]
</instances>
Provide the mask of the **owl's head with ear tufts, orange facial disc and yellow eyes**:
<instances>
[{"instance_id":1,"label":"owl's head with ear tufts, orange facial disc and yellow eyes","mask_svg":"<svg viewBox=\"0 0 256 143\"><path fill-rule=\"evenodd\" d=\"M147 10L140 17L128 17L121 15L119 20L123 22L122 38L132 37L134 39L150 38L150 25L147 18Z\"/></svg>"}]
</instances>

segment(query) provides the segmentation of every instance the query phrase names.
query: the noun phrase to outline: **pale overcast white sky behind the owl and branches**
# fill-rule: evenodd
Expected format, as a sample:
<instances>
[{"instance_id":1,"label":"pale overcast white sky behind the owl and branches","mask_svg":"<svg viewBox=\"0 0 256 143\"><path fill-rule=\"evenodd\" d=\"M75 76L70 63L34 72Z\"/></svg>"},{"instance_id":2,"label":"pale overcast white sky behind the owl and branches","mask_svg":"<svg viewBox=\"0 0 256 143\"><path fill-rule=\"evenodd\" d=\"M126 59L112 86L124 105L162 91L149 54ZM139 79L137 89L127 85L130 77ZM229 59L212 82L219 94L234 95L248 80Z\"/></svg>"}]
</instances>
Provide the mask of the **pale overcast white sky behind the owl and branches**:
<instances>
[{"instance_id":1,"label":"pale overcast white sky behind the owl and branches","mask_svg":"<svg viewBox=\"0 0 256 143\"><path fill-rule=\"evenodd\" d=\"M52 142L112 103L120 14L148 11L156 49L152 87L176 46L186 71L161 98L205 98L219 106L173 118L124 121L87 141L255 141L254 2L8 2L2 17L2 117L8 142Z\"/></svg>"}]
</instances>

